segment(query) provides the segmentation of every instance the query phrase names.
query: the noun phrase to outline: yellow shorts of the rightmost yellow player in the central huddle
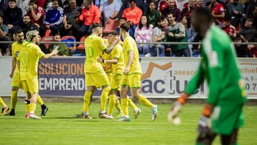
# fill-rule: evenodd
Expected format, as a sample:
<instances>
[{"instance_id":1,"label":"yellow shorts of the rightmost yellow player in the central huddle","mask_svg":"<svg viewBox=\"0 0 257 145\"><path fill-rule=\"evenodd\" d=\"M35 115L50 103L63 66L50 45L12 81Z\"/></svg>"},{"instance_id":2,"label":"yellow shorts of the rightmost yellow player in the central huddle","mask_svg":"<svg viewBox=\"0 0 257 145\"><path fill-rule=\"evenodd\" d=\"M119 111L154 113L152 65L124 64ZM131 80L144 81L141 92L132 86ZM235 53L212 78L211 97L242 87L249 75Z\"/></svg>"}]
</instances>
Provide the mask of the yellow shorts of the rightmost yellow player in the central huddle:
<instances>
[{"instance_id":1,"label":"yellow shorts of the rightmost yellow player in the central huddle","mask_svg":"<svg viewBox=\"0 0 257 145\"><path fill-rule=\"evenodd\" d=\"M128 74L123 75L121 80L121 86L129 86L131 89L141 87L141 76L142 74Z\"/></svg>"}]
</instances>

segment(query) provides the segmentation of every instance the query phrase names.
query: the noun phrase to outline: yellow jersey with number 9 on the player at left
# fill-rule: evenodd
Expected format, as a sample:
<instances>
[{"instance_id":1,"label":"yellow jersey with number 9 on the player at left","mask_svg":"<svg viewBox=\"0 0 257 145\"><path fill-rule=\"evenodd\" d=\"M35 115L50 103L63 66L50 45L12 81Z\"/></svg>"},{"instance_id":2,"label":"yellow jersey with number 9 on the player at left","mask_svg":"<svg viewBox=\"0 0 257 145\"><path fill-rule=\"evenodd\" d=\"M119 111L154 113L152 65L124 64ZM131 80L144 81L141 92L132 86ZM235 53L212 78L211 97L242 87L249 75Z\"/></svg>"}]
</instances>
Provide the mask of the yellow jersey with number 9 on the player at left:
<instances>
[{"instance_id":1,"label":"yellow jersey with number 9 on the player at left","mask_svg":"<svg viewBox=\"0 0 257 145\"><path fill-rule=\"evenodd\" d=\"M39 59L44 56L38 45L29 42L22 46L19 56L20 61L20 79L28 80L37 78Z\"/></svg>"}]
</instances>

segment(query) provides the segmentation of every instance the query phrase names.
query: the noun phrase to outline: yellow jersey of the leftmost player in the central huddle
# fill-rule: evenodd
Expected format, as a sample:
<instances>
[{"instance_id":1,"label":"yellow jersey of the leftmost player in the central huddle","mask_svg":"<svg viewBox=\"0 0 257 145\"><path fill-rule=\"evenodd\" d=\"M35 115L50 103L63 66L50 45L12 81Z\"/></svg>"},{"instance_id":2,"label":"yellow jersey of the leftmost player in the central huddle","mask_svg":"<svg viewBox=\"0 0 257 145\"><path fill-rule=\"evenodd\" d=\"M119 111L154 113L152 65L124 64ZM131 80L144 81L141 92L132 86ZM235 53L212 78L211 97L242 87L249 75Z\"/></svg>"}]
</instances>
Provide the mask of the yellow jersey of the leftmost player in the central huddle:
<instances>
[{"instance_id":1,"label":"yellow jersey of the leftmost player in the central huddle","mask_svg":"<svg viewBox=\"0 0 257 145\"><path fill-rule=\"evenodd\" d=\"M103 51L107 47L104 40L100 36L91 34L90 36L86 37L84 45L86 53L84 72L94 73L104 71L101 63L97 61L97 58L101 57L101 54L103 54Z\"/></svg>"}]
</instances>

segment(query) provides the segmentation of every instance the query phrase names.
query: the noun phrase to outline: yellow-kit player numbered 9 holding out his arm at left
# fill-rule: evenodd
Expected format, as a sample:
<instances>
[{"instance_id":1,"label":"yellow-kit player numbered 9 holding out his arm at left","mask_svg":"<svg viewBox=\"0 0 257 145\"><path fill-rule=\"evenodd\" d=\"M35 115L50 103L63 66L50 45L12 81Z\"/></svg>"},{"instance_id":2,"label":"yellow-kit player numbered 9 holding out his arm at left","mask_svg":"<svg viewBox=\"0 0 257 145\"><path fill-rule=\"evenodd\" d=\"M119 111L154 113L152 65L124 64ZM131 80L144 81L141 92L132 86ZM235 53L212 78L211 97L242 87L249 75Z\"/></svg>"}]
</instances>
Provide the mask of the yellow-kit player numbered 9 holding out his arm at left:
<instances>
[{"instance_id":1,"label":"yellow-kit player numbered 9 holding out his arm at left","mask_svg":"<svg viewBox=\"0 0 257 145\"><path fill-rule=\"evenodd\" d=\"M37 45L40 40L39 32L29 31L26 35L29 42L21 47L17 58L21 84L24 88L24 93L27 94L24 101L27 112L25 117L26 119L41 119L34 114L36 100L39 96L39 80L37 74L39 59L49 59L51 56L58 54L58 51L54 50L51 54L44 54Z\"/></svg>"}]
</instances>

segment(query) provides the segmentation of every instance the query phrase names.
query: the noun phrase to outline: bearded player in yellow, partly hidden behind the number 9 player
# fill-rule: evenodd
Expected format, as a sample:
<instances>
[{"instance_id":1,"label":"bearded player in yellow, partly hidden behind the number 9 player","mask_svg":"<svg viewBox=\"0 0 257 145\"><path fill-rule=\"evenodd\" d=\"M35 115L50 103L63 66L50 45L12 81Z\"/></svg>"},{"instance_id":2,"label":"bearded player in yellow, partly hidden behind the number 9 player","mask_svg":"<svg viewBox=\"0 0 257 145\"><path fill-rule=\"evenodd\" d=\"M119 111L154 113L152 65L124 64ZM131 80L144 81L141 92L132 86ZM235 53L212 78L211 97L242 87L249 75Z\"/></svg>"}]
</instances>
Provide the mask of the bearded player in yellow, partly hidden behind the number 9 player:
<instances>
[{"instance_id":1,"label":"bearded player in yellow, partly hidden behind the number 9 player","mask_svg":"<svg viewBox=\"0 0 257 145\"><path fill-rule=\"evenodd\" d=\"M11 80L11 111L9 112L9 114L6 114L8 116L15 116L18 90L23 89L19 78L19 70L18 70L18 66L16 65L16 59L19 56L19 51L21 51L21 47L24 44L26 44L27 41L24 40L24 32L21 31L20 29L16 30L15 38L16 38L16 42L14 42L14 44L11 44L11 53L13 56L11 74L9 75L10 78L12 79ZM41 116L45 116L46 112L48 111L48 107L44 104L43 100L41 99L41 96L38 96L37 102L41 106Z\"/></svg>"}]
</instances>

